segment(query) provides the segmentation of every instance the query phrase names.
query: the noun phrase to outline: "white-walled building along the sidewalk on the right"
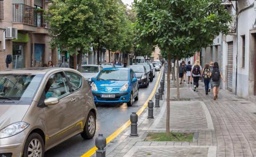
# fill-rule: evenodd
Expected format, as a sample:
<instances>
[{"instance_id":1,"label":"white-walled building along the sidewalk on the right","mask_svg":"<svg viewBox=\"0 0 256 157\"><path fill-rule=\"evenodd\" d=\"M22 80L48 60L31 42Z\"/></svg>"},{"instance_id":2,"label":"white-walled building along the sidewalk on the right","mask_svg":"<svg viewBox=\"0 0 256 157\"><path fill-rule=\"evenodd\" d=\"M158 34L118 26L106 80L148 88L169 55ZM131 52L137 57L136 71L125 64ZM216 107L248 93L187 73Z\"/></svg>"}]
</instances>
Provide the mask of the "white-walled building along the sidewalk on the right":
<instances>
[{"instance_id":1,"label":"white-walled building along the sidewalk on the right","mask_svg":"<svg viewBox=\"0 0 256 157\"><path fill-rule=\"evenodd\" d=\"M203 62L219 62L226 80L222 88L256 102L256 2L223 0L222 4L233 18L230 32L203 49Z\"/></svg>"}]
</instances>

